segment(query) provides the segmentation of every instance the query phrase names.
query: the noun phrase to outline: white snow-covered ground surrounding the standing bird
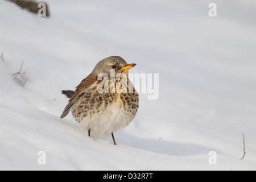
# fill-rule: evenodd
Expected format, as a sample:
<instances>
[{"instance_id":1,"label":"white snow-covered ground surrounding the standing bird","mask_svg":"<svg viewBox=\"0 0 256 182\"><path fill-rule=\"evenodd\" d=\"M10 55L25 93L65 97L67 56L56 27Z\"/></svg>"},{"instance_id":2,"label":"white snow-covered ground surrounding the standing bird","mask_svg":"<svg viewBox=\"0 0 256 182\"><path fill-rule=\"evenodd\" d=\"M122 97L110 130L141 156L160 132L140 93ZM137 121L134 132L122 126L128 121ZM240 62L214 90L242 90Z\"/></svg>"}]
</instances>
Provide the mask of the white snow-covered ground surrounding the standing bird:
<instances>
[{"instance_id":1,"label":"white snow-covered ground surrounding the standing bird","mask_svg":"<svg viewBox=\"0 0 256 182\"><path fill-rule=\"evenodd\" d=\"M0 169L256 169L255 1L214 1L217 17L205 0L45 2L50 18L0 1ZM60 90L112 55L159 73L159 98L140 94L117 146L60 119Z\"/></svg>"}]
</instances>

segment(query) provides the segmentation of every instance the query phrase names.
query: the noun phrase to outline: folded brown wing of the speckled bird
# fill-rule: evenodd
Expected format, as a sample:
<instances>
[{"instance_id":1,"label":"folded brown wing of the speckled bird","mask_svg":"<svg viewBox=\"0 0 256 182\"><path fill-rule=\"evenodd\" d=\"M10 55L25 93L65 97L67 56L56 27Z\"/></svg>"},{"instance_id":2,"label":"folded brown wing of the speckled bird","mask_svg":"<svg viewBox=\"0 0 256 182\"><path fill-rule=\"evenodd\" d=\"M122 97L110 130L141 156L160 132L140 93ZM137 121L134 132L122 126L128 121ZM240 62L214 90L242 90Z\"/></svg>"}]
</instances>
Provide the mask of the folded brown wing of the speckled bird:
<instances>
[{"instance_id":1,"label":"folded brown wing of the speckled bird","mask_svg":"<svg viewBox=\"0 0 256 182\"><path fill-rule=\"evenodd\" d=\"M79 101L82 96L84 96L86 90L95 82L97 82L97 77L93 76L92 73L90 73L90 75L88 75L86 78L84 78L84 80L80 82L80 84L76 87L75 93L69 99L68 105L65 107L60 118L64 118L66 115L68 115L69 110L71 110L72 106L76 104L76 102Z\"/></svg>"}]
</instances>

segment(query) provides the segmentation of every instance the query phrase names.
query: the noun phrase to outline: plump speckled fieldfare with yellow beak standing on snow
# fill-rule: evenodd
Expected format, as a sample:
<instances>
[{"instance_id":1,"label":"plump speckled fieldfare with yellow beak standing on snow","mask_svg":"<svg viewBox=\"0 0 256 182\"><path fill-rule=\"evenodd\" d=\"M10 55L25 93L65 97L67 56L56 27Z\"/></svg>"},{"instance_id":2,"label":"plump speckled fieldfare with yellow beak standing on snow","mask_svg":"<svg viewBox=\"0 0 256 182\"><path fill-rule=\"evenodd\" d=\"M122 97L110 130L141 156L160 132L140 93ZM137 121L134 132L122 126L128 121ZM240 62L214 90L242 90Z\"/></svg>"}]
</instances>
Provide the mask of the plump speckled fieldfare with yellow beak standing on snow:
<instances>
[{"instance_id":1,"label":"plump speckled fieldfare with yellow beak standing on snow","mask_svg":"<svg viewBox=\"0 0 256 182\"><path fill-rule=\"evenodd\" d=\"M96 64L88 75L73 90L62 90L68 98L60 118L72 109L73 118L96 135L112 135L123 130L135 117L139 107L139 94L128 78L128 69L136 64L127 64L120 56L110 56Z\"/></svg>"}]
</instances>

